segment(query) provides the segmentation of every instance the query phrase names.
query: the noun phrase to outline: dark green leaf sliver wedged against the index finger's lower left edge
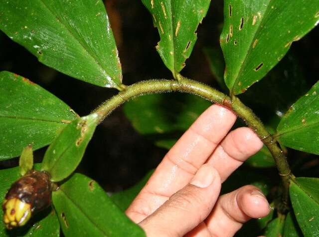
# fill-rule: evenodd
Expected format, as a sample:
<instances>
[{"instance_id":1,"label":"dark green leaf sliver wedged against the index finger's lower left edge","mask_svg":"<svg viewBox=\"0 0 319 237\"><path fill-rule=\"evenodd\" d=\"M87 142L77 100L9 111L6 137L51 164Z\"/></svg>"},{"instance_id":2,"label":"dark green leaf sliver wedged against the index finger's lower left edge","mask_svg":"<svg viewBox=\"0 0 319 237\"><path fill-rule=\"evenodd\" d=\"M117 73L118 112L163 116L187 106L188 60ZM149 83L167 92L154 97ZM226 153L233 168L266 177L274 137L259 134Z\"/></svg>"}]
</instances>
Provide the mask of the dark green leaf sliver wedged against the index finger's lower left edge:
<instances>
[{"instance_id":1,"label":"dark green leaf sliver wedged against the index finger's lower left edge","mask_svg":"<svg viewBox=\"0 0 319 237\"><path fill-rule=\"evenodd\" d=\"M146 185L148 180L150 179L151 175L153 174L154 170L149 171L146 176L136 185L133 187L115 193L111 196L112 201L118 205L118 207L122 210L125 211L128 209L130 204L133 202L135 197L140 193L142 188Z\"/></svg>"}]
</instances>

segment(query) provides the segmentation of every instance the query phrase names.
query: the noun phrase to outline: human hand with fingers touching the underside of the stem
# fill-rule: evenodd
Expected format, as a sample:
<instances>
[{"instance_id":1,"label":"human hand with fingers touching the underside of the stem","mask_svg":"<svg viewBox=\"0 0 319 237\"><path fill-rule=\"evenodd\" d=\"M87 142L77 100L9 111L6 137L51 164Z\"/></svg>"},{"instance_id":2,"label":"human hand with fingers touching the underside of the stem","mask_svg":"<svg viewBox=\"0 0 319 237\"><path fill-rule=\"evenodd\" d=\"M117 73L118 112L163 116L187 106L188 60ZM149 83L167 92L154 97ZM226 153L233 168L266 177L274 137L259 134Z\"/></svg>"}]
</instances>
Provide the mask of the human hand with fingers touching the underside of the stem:
<instances>
[{"instance_id":1,"label":"human hand with fingers touching the underside of the stem","mask_svg":"<svg viewBox=\"0 0 319 237\"><path fill-rule=\"evenodd\" d=\"M250 128L229 132L235 120L212 105L165 155L126 211L148 237L232 237L251 218L269 214L254 186L219 197L221 183L263 146Z\"/></svg>"}]
</instances>

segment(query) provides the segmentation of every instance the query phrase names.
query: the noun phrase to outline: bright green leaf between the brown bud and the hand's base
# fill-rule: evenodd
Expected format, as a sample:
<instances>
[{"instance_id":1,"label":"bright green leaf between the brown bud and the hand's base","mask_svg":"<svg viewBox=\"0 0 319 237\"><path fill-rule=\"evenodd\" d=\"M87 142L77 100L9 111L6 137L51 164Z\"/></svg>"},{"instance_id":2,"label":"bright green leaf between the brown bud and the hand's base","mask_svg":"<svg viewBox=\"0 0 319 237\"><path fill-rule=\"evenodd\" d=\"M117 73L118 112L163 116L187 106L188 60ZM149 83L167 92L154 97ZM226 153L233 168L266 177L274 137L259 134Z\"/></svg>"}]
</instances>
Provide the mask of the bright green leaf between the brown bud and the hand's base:
<instances>
[{"instance_id":1,"label":"bright green leaf between the brown bud and the hand's base","mask_svg":"<svg viewBox=\"0 0 319 237\"><path fill-rule=\"evenodd\" d=\"M93 180L74 174L52 194L65 237L145 237Z\"/></svg>"}]
</instances>

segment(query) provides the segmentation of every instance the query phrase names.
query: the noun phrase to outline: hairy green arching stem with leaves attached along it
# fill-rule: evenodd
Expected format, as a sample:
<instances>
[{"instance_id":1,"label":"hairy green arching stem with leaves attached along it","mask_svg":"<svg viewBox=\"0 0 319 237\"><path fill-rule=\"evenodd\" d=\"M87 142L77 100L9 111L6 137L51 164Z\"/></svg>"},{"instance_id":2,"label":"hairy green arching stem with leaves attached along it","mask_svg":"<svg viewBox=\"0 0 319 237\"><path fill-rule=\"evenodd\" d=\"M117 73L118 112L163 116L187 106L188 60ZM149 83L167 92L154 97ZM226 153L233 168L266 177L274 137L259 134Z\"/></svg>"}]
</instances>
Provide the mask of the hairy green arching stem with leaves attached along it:
<instances>
[{"instance_id":1,"label":"hairy green arching stem with leaves attached along it","mask_svg":"<svg viewBox=\"0 0 319 237\"><path fill-rule=\"evenodd\" d=\"M155 94L162 92L187 92L201 96L211 102L224 105L232 109L235 114L243 119L245 123L252 128L255 133L260 137L264 144L270 150L276 162L280 176L284 184L284 203L288 201L289 179L291 175L290 167L287 158L283 151L280 149L277 142L268 133L261 120L244 105L237 97L229 96L197 81L189 80L180 76L179 80L148 80L135 83L127 86L119 94L113 96L111 99L105 101L102 105L96 108L93 112L100 113L101 121L108 116L114 109L123 104L124 102L145 94ZM100 121L100 122L101 122Z\"/></svg>"}]
</instances>

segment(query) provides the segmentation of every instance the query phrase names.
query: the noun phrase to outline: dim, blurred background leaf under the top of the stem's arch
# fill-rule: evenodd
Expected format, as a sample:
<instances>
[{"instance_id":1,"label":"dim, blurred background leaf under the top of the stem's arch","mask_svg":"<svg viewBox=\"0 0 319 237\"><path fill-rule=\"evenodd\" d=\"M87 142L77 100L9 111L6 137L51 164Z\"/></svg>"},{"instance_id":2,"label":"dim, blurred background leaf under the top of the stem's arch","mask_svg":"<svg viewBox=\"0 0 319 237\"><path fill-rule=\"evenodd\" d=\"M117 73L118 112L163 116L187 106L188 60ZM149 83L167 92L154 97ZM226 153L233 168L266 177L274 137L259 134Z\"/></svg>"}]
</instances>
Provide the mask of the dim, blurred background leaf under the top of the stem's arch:
<instances>
[{"instance_id":1,"label":"dim, blurred background leaf under the top of the stem's arch","mask_svg":"<svg viewBox=\"0 0 319 237\"><path fill-rule=\"evenodd\" d=\"M195 95L154 94L129 101L124 112L141 134L165 134L184 132L210 105Z\"/></svg>"}]
</instances>

